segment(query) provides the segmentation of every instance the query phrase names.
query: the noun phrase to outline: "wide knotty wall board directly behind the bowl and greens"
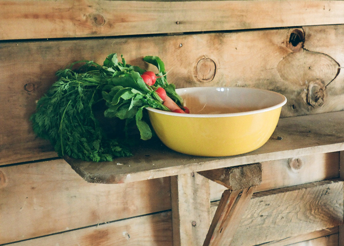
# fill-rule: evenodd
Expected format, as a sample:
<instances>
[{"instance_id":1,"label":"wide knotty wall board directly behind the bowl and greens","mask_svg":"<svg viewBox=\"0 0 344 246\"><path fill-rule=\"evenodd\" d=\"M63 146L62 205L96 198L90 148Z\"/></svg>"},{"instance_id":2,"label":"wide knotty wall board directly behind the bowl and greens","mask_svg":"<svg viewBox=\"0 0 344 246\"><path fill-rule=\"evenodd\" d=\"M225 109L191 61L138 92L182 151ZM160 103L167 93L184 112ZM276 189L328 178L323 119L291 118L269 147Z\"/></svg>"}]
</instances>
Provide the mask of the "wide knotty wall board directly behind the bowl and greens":
<instances>
[{"instance_id":1,"label":"wide knotty wall board directly behind the bowl and greens","mask_svg":"<svg viewBox=\"0 0 344 246\"><path fill-rule=\"evenodd\" d=\"M331 83L330 80L335 77L333 65L338 63L343 66L344 63L344 25L327 25L321 28L299 28L305 33L305 51L301 58L296 57L299 59L297 61L322 58L315 59L319 62L313 64L313 70L309 70L309 64L300 66L297 63L297 68L303 71L303 81L299 84L288 76L284 76L288 81L284 80L278 70L292 70L286 68L285 64L282 66L283 62L280 62L285 57L295 59L295 55L290 57L293 52L289 45L289 37L294 28L1 43L0 104L11 106L4 107L0 117L0 125L4 126L0 130L0 163L11 164L56 156L49 143L37 139L32 133L29 117L34 112L36 100L55 81L54 73L58 69L77 60L102 63L108 54L114 52L123 54L128 63L147 70L154 68L145 64L142 58L145 55L158 55L169 71L169 82L175 83L177 87L247 86L278 91L286 95L288 100L282 107L282 117L343 110L343 73L340 72ZM20 59L16 59L19 57ZM216 71L213 71L215 75L211 81L199 80L207 75L205 71L197 69L197 64L204 62L215 65ZM292 71L290 74L297 72ZM322 78L321 84L330 83L324 90L324 103L315 107L305 99L309 87L307 81L314 79L314 74Z\"/></svg>"}]
</instances>

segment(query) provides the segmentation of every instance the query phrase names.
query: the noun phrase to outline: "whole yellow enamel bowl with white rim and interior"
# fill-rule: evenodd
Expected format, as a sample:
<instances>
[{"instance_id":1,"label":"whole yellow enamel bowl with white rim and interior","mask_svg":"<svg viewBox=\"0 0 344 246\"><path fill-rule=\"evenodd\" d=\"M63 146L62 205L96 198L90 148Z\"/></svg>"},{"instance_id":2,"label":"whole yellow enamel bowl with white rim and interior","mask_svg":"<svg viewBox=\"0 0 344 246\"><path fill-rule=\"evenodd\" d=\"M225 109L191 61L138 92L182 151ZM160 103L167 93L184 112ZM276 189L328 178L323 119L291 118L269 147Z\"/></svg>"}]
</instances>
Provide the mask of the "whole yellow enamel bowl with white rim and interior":
<instances>
[{"instance_id":1,"label":"whole yellow enamel bowl with white rim and interior","mask_svg":"<svg viewBox=\"0 0 344 246\"><path fill-rule=\"evenodd\" d=\"M231 156L265 144L287 99L280 93L241 87L193 87L176 92L190 114L148 107L159 139L174 151L197 156Z\"/></svg>"}]
</instances>

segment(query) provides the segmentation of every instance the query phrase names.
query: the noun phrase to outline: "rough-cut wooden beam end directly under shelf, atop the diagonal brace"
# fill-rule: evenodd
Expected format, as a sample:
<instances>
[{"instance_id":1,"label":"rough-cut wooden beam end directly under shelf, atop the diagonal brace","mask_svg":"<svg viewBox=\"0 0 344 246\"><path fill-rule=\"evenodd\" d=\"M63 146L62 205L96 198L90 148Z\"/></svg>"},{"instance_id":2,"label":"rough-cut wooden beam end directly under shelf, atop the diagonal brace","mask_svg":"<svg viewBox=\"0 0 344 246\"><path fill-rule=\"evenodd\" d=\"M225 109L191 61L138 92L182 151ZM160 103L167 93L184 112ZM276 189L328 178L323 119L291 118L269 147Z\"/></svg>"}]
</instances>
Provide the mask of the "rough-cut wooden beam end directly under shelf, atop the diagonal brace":
<instances>
[{"instance_id":1,"label":"rough-cut wooden beam end directly under shelf, atop the diagonal brace","mask_svg":"<svg viewBox=\"0 0 344 246\"><path fill-rule=\"evenodd\" d=\"M198 172L218 184L234 191L261 183L261 163L224 167Z\"/></svg>"}]
</instances>

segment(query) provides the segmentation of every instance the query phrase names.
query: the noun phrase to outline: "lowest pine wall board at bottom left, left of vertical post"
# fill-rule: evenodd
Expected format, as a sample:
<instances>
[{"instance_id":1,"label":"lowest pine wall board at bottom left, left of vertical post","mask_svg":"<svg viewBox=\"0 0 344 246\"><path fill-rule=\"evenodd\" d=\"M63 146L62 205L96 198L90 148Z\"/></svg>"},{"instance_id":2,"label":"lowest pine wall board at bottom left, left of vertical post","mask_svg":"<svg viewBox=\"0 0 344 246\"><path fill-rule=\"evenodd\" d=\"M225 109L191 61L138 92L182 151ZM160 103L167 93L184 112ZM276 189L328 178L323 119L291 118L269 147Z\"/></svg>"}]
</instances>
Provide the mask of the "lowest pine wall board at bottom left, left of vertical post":
<instances>
[{"instance_id":1,"label":"lowest pine wall board at bottom left, left of vertical post","mask_svg":"<svg viewBox=\"0 0 344 246\"><path fill-rule=\"evenodd\" d=\"M171 212L125 219L10 246L172 246Z\"/></svg>"}]
</instances>

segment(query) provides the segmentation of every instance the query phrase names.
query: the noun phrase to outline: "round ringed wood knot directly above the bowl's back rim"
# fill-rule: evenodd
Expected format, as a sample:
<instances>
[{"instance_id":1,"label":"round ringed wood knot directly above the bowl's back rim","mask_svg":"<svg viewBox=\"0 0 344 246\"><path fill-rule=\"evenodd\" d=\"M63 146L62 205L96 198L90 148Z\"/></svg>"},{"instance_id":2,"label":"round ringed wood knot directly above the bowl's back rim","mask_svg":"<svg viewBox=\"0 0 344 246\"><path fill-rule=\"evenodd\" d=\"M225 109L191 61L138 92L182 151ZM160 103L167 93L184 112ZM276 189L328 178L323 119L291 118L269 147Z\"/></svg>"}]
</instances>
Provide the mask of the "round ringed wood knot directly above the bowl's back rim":
<instances>
[{"instance_id":1,"label":"round ringed wood knot directly above the bowl's back rim","mask_svg":"<svg viewBox=\"0 0 344 246\"><path fill-rule=\"evenodd\" d=\"M195 77L199 82L207 83L214 79L216 64L210 58L202 58L197 62Z\"/></svg>"}]
</instances>

